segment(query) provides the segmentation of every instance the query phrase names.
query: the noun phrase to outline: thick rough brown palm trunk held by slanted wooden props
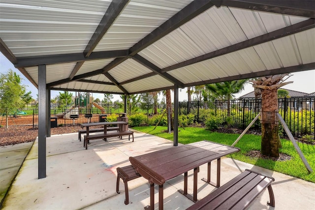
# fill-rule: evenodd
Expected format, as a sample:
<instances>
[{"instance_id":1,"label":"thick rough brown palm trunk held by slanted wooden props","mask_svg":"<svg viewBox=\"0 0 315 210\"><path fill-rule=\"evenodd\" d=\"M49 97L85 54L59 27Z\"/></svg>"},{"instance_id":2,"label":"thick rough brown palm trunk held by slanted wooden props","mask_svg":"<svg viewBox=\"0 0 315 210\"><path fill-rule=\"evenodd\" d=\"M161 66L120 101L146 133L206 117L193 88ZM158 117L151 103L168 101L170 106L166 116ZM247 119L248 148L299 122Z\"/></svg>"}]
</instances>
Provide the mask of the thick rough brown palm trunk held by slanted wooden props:
<instances>
[{"instance_id":1,"label":"thick rough brown palm trunk held by slanted wooden props","mask_svg":"<svg viewBox=\"0 0 315 210\"><path fill-rule=\"evenodd\" d=\"M279 157L279 127L277 89L261 90L261 154Z\"/></svg>"}]
</instances>

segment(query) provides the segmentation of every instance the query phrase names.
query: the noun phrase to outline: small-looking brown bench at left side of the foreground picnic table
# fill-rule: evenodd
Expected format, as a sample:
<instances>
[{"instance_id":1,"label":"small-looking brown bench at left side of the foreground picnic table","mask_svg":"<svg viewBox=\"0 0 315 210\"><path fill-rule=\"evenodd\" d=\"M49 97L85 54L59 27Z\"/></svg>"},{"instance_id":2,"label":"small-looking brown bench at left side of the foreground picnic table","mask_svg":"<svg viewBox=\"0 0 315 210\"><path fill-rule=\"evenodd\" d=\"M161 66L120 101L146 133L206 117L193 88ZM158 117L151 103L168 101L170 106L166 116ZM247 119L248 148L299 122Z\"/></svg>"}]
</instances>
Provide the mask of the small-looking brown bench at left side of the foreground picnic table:
<instances>
[{"instance_id":1,"label":"small-looking brown bench at left side of the foreground picnic table","mask_svg":"<svg viewBox=\"0 0 315 210\"><path fill-rule=\"evenodd\" d=\"M125 166L122 168L117 168L117 184L116 184L116 192L120 193L119 191L119 179L123 179L125 183L125 205L129 204L129 193L128 193L128 184L127 181L130 181L132 179L141 177L140 174L136 172L136 170L133 168L133 166Z\"/></svg>"}]
</instances>

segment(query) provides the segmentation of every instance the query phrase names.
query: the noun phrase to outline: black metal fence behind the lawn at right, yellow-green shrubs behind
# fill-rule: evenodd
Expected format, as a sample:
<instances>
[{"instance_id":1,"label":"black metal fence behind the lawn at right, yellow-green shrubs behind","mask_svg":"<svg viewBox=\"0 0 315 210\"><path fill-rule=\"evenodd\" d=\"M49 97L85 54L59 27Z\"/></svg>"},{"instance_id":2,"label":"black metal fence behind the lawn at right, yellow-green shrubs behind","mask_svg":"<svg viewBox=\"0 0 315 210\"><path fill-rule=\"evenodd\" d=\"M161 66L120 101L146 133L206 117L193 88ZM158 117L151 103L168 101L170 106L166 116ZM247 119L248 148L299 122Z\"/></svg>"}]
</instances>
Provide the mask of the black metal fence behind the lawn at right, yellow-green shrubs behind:
<instances>
[{"instance_id":1,"label":"black metal fence behind the lawn at right, yellow-green shrubs behind","mask_svg":"<svg viewBox=\"0 0 315 210\"><path fill-rule=\"evenodd\" d=\"M278 99L279 113L295 137L314 135L315 97ZM227 101L212 102L180 102L179 113L195 115L195 121L204 123L210 117L216 116L227 122L232 128L245 129L260 112L261 100L244 99L230 101L230 117L227 117ZM251 130L260 131L260 121L252 125ZM282 127L281 127L282 129Z\"/></svg>"}]
</instances>

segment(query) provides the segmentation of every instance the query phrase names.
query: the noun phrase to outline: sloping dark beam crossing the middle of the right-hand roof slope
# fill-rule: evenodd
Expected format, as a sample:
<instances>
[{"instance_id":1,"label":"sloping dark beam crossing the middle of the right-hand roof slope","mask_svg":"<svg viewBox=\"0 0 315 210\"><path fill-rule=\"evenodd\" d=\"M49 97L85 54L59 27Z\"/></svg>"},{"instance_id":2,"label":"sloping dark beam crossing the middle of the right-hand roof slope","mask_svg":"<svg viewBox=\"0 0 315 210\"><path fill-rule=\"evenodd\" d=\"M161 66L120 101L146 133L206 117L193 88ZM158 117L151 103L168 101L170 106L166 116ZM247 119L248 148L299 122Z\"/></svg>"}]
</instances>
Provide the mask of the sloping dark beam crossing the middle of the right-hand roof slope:
<instances>
[{"instance_id":1,"label":"sloping dark beam crossing the middle of the right-hand roof slope","mask_svg":"<svg viewBox=\"0 0 315 210\"><path fill-rule=\"evenodd\" d=\"M314 27L315 27L315 19L308 19L308 20L302 21L300 23L296 23L296 24L293 24L291 26L287 26L285 28L282 28L282 29L279 29L279 30L276 30L276 31L273 31L273 32L270 32L270 33L267 33L264 35L256 36L256 37L253 37L251 39L248 39L248 40L245 40L245 41L221 48L219 50L216 50L216 51L213 51L213 52L189 59L187 61L183 61L181 63L174 64L172 66L161 69L161 72L167 72L170 70L175 70L175 69L179 69L182 67L186 67L186 66L189 66L191 64L195 64L195 63L209 60L209 59L212 59L212 58L215 58L215 57L218 57L221 55L225 55L225 54L228 54L231 52L235 52L235 51L242 50L242 49L245 49L248 47L252 47L252 46L255 46L257 44L261 44L261 43L265 43L267 41L272 41L272 40L275 40L278 38L282 38L282 37L287 36L287 35L293 35L293 34L296 34L298 32L303 32L305 30L312 29Z\"/></svg>"}]
</instances>

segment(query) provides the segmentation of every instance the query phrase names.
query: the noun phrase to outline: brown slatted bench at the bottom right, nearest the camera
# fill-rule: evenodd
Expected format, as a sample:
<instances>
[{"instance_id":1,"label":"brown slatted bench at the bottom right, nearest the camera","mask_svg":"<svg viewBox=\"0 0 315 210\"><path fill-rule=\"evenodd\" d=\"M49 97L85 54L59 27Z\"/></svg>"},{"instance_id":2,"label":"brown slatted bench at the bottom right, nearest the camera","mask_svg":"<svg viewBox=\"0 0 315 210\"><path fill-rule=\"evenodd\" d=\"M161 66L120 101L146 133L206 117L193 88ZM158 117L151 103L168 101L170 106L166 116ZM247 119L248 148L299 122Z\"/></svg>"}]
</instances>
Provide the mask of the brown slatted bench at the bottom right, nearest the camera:
<instances>
[{"instance_id":1,"label":"brown slatted bench at the bottom right, nearest the camera","mask_svg":"<svg viewBox=\"0 0 315 210\"><path fill-rule=\"evenodd\" d=\"M214 210L217 208L244 210L266 187L268 187L270 198L270 203L267 202L267 204L275 207L275 198L271 188L271 182L274 180L271 176L245 170L187 210Z\"/></svg>"}]
</instances>

